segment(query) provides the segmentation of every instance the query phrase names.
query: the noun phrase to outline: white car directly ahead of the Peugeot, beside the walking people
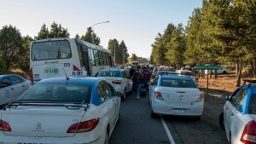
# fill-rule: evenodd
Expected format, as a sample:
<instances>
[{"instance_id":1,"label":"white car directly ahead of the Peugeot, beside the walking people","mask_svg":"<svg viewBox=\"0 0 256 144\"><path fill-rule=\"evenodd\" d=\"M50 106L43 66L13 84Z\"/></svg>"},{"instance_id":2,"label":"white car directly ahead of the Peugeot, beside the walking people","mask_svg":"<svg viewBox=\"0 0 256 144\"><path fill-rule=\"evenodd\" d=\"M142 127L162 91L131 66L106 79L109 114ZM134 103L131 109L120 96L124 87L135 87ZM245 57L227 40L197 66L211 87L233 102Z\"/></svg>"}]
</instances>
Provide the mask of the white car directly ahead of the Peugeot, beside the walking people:
<instances>
[{"instance_id":1,"label":"white car directly ahead of the Peugeot, beside the walking people","mask_svg":"<svg viewBox=\"0 0 256 144\"><path fill-rule=\"evenodd\" d=\"M122 101L125 101L126 94L132 93L133 82L124 69L101 70L96 72L95 76L107 79L116 91L121 91L123 93Z\"/></svg>"}]
</instances>

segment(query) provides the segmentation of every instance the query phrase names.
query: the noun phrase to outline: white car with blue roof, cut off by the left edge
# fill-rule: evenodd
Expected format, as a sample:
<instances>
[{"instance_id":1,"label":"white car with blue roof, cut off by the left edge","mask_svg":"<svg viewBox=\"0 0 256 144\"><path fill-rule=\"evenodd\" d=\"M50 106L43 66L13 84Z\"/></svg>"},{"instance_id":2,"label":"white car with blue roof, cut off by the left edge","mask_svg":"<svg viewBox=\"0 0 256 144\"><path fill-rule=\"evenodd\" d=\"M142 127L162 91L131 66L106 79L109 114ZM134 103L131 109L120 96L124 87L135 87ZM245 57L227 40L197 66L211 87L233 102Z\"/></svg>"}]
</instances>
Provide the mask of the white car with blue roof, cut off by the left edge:
<instances>
[{"instance_id":1,"label":"white car with blue roof, cut off by the left edge","mask_svg":"<svg viewBox=\"0 0 256 144\"><path fill-rule=\"evenodd\" d=\"M0 75L0 105L15 101L30 85L29 80L19 75Z\"/></svg>"}]
</instances>

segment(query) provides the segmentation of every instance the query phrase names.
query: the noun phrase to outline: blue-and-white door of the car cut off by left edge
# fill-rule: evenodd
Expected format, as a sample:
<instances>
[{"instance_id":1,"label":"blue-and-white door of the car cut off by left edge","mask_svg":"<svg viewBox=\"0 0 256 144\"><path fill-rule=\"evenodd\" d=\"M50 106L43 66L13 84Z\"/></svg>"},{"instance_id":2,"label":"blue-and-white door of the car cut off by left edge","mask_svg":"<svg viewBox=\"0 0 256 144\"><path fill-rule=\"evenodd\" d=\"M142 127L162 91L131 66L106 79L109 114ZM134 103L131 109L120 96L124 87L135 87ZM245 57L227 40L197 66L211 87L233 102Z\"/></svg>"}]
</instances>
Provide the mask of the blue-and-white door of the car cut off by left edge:
<instances>
[{"instance_id":1,"label":"blue-and-white door of the car cut off by left edge","mask_svg":"<svg viewBox=\"0 0 256 144\"><path fill-rule=\"evenodd\" d=\"M11 85L9 77L3 78L0 85L0 105L3 105L11 100L11 97L15 94L15 89Z\"/></svg>"}]
</instances>

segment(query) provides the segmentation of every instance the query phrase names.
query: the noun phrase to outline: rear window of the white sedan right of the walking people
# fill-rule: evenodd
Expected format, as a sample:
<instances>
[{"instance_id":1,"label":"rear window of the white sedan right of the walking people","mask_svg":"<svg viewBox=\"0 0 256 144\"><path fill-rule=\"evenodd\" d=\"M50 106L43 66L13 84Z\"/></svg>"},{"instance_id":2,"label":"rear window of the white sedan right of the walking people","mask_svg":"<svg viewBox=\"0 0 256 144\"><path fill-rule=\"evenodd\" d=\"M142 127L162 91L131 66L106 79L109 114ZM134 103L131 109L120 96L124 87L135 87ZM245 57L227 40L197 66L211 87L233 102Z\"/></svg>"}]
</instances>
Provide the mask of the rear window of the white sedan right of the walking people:
<instances>
[{"instance_id":1,"label":"rear window of the white sedan right of the walking people","mask_svg":"<svg viewBox=\"0 0 256 144\"><path fill-rule=\"evenodd\" d=\"M196 88L192 80L183 79L162 79L161 86L174 88Z\"/></svg>"}]
</instances>

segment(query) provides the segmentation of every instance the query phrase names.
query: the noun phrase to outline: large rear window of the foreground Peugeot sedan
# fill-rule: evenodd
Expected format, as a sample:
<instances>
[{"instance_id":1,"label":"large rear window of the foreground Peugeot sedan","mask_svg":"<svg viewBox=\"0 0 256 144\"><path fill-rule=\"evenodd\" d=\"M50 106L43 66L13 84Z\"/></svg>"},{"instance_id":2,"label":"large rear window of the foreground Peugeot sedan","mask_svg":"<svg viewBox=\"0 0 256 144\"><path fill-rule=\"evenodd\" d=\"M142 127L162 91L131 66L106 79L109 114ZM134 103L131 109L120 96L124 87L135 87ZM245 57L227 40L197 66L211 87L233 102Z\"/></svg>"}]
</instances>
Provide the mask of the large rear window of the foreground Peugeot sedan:
<instances>
[{"instance_id":1,"label":"large rear window of the foreground Peugeot sedan","mask_svg":"<svg viewBox=\"0 0 256 144\"><path fill-rule=\"evenodd\" d=\"M21 95L19 101L90 103L91 87L82 84L35 84Z\"/></svg>"}]
</instances>

